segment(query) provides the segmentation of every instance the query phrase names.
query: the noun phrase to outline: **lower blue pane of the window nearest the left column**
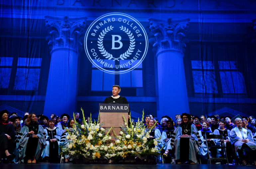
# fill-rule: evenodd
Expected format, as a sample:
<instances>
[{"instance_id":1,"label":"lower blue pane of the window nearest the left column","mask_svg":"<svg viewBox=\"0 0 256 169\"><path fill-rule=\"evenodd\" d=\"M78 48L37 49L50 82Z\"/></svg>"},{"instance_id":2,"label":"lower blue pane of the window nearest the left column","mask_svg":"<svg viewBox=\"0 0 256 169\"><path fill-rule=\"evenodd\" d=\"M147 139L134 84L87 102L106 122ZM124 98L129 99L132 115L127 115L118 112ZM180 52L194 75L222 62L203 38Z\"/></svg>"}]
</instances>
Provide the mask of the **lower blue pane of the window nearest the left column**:
<instances>
[{"instance_id":1,"label":"lower blue pane of the window nearest the left column","mask_svg":"<svg viewBox=\"0 0 256 169\"><path fill-rule=\"evenodd\" d=\"M18 68L13 88L16 90L36 90L39 76L40 69Z\"/></svg>"}]
</instances>

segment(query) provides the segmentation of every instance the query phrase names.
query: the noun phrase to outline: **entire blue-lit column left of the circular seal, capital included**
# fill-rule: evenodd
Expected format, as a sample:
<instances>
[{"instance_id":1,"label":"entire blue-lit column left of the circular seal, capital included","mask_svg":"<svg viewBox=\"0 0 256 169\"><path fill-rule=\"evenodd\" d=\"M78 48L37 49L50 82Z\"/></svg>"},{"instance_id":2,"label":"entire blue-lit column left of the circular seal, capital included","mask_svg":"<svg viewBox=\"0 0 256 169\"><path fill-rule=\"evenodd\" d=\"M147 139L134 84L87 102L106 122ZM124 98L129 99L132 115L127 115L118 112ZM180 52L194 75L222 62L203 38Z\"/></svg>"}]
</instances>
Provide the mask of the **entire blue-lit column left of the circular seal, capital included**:
<instances>
[{"instance_id":1,"label":"entire blue-lit column left of the circular seal, capital included","mask_svg":"<svg viewBox=\"0 0 256 169\"><path fill-rule=\"evenodd\" d=\"M69 19L46 16L46 37L52 48L44 115L71 115L76 108L79 51L83 45L86 17ZM72 116L71 116L72 117Z\"/></svg>"}]
</instances>

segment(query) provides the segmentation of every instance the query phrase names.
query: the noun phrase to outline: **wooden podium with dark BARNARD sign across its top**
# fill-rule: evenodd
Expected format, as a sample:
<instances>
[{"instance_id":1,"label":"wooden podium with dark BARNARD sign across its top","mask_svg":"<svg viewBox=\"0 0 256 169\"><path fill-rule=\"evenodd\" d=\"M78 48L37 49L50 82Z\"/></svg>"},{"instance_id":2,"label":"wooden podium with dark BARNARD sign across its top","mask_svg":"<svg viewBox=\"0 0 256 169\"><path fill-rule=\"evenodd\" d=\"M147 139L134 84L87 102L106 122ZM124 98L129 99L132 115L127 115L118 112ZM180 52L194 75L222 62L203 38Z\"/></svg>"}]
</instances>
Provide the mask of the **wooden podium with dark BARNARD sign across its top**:
<instances>
[{"instance_id":1,"label":"wooden podium with dark BARNARD sign across its top","mask_svg":"<svg viewBox=\"0 0 256 169\"><path fill-rule=\"evenodd\" d=\"M115 134L120 135L121 127L120 124L124 125L123 115L128 124L128 112L129 104L99 104L99 123L105 123L102 125L104 129L110 129L113 127ZM114 133L111 131L110 136L114 136Z\"/></svg>"}]
</instances>

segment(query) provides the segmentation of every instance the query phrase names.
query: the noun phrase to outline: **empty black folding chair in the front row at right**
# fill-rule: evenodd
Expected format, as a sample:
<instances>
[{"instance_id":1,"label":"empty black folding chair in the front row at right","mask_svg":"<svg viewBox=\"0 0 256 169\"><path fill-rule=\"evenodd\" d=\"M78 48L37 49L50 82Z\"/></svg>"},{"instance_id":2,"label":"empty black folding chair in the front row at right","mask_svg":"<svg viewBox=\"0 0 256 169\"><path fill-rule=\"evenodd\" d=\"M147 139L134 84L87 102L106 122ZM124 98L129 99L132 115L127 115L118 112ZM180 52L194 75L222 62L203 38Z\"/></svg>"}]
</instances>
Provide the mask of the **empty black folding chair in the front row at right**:
<instances>
[{"instance_id":1,"label":"empty black folding chair in the front row at right","mask_svg":"<svg viewBox=\"0 0 256 169\"><path fill-rule=\"evenodd\" d=\"M223 141L223 136L222 135L205 135L205 140L207 139L219 139L220 140L220 146L219 145L213 145L213 146L208 146L208 141L206 141L206 145L207 145L207 152L208 152L208 157L209 157L209 161L211 164L211 160L226 160L227 164L228 164L228 159L227 159L227 152L226 152L226 146L224 144ZM211 157L209 150L210 149L221 149L221 157ZM225 156L224 156L224 152L225 152Z\"/></svg>"}]
</instances>

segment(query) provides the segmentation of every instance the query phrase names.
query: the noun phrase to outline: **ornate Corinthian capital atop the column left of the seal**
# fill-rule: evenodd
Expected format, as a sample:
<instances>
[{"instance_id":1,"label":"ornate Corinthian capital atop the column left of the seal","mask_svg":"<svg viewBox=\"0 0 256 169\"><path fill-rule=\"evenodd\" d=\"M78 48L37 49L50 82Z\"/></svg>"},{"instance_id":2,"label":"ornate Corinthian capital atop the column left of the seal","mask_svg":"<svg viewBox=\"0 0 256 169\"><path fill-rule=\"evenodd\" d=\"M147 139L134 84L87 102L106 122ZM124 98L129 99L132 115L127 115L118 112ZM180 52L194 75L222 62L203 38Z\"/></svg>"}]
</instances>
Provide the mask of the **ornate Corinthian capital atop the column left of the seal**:
<instances>
[{"instance_id":1,"label":"ornate Corinthian capital atop the column left of the seal","mask_svg":"<svg viewBox=\"0 0 256 169\"><path fill-rule=\"evenodd\" d=\"M46 37L52 50L57 48L71 48L75 51L82 49L83 35L86 28L86 17L63 18L46 16L46 28L49 36Z\"/></svg>"}]
</instances>

